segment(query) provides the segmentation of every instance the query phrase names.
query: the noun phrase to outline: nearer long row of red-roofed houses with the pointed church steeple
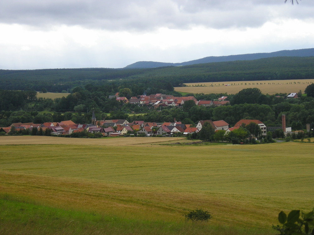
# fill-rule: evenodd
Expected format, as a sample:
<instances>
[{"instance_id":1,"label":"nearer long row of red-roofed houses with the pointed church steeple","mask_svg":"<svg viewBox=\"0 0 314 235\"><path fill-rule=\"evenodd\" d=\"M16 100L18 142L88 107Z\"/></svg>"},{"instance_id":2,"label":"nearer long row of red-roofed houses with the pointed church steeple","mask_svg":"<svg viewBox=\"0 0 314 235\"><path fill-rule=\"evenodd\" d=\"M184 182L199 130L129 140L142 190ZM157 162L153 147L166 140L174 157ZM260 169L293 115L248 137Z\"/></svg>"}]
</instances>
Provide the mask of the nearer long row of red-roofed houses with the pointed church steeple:
<instances>
[{"instance_id":1,"label":"nearer long row of red-roofed houses with the pointed church steeple","mask_svg":"<svg viewBox=\"0 0 314 235\"><path fill-rule=\"evenodd\" d=\"M101 120L97 121L95 118L95 113L93 112L92 123L91 124L76 124L71 120L62 121L59 123L13 123L10 127L3 127L3 131L6 133L10 132L12 126L14 126L16 131L21 131L23 129L32 130L34 127L37 129L41 128L42 132L45 132L48 128L52 135L60 134L71 134L75 132L87 131L90 133L101 133L103 136L124 136L127 133L137 132L145 136L160 135L160 136L171 136L175 133L182 133L187 135L189 133L198 133L204 123L210 123L210 125L217 130L225 130L226 132L233 131L234 129L240 128L242 124L249 124L251 122L257 123L262 130L262 134L266 135L267 128L259 120L246 120L242 119L236 123L232 128L224 120L212 121L212 120L201 120L198 122L196 127L192 127L191 124L184 124L174 120L173 123L155 123L155 122L144 122L144 121L133 121L129 123L125 119L116 120Z\"/></svg>"}]
</instances>

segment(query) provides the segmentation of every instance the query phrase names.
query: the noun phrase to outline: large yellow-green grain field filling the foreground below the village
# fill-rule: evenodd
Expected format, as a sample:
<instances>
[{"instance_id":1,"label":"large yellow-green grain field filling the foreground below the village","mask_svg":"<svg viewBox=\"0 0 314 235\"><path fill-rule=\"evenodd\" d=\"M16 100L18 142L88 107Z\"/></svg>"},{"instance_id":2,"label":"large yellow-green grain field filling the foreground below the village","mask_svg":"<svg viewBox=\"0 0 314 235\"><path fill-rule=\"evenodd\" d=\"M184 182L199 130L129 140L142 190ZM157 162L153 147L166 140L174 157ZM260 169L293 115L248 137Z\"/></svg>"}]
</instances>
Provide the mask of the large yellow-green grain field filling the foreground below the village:
<instances>
[{"instance_id":1,"label":"large yellow-green grain field filling the foreground below the village","mask_svg":"<svg viewBox=\"0 0 314 235\"><path fill-rule=\"evenodd\" d=\"M276 234L314 206L311 143L37 138L0 138L0 234ZM185 222L196 208L213 219Z\"/></svg>"}]
</instances>

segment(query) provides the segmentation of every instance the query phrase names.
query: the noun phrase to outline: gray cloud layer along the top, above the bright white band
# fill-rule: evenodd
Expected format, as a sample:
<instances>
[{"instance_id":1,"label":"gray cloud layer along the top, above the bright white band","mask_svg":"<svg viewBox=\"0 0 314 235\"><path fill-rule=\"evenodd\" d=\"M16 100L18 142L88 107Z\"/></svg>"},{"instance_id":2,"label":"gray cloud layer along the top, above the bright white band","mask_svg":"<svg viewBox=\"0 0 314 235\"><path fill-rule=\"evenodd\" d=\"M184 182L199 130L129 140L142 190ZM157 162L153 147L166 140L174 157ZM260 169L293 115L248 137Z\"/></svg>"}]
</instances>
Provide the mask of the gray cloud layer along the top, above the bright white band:
<instances>
[{"instance_id":1,"label":"gray cloud layer along the top, above the bright white band","mask_svg":"<svg viewBox=\"0 0 314 235\"><path fill-rule=\"evenodd\" d=\"M3 0L0 22L47 28L81 25L108 30L258 27L275 17L312 18L313 4L283 0Z\"/></svg>"}]
</instances>

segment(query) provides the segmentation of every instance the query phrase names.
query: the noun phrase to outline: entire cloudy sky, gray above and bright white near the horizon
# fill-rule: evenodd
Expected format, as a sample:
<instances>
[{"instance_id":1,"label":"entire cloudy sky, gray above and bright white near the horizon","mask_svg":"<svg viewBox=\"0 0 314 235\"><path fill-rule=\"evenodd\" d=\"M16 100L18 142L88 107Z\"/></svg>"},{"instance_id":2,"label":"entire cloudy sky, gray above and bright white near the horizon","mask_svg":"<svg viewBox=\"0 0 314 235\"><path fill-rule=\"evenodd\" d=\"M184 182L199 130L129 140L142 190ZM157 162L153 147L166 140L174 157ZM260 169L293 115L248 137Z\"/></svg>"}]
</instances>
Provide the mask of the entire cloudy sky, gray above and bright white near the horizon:
<instances>
[{"instance_id":1,"label":"entire cloudy sky, gray above and bright white near the horizon","mask_svg":"<svg viewBox=\"0 0 314 235\"><path fill-rule=\"evenodd\" d=\"M1 0L0 69L313 48L314 0Z\"/></svg>"}]
</instances>

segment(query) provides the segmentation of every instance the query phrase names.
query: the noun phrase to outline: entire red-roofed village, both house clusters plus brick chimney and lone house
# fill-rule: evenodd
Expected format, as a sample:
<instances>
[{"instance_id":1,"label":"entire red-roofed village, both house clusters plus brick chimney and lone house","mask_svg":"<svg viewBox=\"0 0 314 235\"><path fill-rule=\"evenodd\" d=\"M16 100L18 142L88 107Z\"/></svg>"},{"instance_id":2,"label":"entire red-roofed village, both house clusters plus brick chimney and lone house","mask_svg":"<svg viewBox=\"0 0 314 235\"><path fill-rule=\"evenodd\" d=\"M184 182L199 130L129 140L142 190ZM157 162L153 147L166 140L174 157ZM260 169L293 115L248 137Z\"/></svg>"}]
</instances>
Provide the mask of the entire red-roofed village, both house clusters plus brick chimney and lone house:
<instances>
[{"instance_id":1,"label":"entire red-roofed village, both house clusters plus brick chimney and lone house","mask_svg":"<svg viewBox=\"0 0 314 235\"><path fill-rule=\"evenodd\" d=\"M291 93L288 97L297 97L297 93ZM123 103L133 103L137 105L150 105L155 109L165 106L176 106L182 107L186 101L194 101L198 106L221 106L228 104L230 101L226 100L228 97L223 96L218 98L217 101L197 101L193 96L187 97L174 97L172 95L165 94L152 94L149 96L142 95L139 98L131 97L119 97L119 92L114 96L109 96L110 99L115 98L117 101ZM0 133L12 134L12 128L15 133L32 133L35 135L71 135L72 133L88 132L88 133L99 133L98 136L104 137L117 137L117 136L187 136L188 134L198 133L204 123L210 123L214 131L224 130L225 133L234 131L243 125L250 123L256 123L261 129L263 136L267 134L266 125L260 120L254 119L241 119L233 127L230 127L229 123L224 120L212 121L212 120L199 120L198 123L185 124L181 121L177 121L174 118L173 122L144 122L144 121L133 121L129 123L126 119L111 119L111 120L96 120L95 111L93 111L92 119L90 124L74 123L71 120L62 122L46 122L46 123L12 123L9 127L0 127ZM273 129L282 129L285 134L291 133L291 127L285 126L285 115L282 117L282 127L270 127ZM11 133L10 133L11 132ZM101 135L100 135L101 134Z\"/></svg>"}]
</instances>

